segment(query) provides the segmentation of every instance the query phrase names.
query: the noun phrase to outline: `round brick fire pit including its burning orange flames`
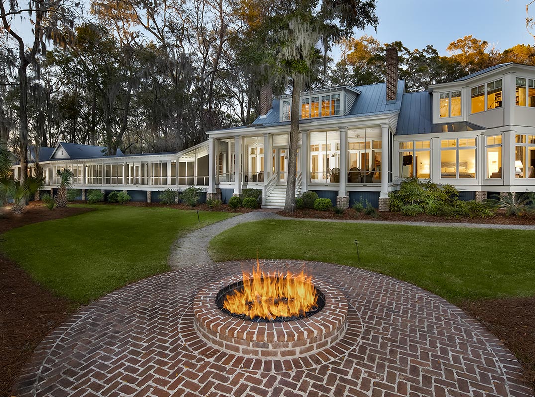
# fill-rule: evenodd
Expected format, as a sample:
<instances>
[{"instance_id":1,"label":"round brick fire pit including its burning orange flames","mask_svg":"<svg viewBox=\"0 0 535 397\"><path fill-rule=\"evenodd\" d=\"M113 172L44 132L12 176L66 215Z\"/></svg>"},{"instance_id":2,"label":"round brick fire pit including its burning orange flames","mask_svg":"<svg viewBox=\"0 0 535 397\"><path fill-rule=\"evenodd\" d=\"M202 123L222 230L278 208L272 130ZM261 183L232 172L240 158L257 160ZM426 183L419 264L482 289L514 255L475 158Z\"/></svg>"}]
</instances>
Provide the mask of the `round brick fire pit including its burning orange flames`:
<instances>
[{"instance_id":1,"label":"round brick fire pit including its burning orange flames","mask_svg":"<svg viewBox=\"0 0 535 397\"><path fill-rule=\"evenodd\" d=\"M317 353L334 344L346 331L348 305L324 281L304 273L262 274L257 267L204 287L193 310L195 329L209 345L275 359Z\"/></svg>"}]
</instances>

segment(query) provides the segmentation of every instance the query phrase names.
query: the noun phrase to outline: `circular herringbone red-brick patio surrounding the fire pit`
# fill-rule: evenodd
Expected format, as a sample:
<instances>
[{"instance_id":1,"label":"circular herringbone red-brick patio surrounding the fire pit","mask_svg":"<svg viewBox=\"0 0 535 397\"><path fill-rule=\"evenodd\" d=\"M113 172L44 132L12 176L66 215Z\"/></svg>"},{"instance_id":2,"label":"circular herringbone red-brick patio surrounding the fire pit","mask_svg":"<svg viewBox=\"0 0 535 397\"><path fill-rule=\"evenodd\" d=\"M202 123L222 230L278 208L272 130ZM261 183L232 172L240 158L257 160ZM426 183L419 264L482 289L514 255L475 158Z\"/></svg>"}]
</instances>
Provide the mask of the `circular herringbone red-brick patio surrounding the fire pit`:
<instances>
[{"instance_id":1,"label":"circular herringbone red-brick patio surrounding the fire pit","mask_svg":"<svg viewBox=\"0 0 535 397\"><path fill-rule=\"evenodd\" d=\"M53 331L17 385L25 396L532 396L512 356L444 299L370 271L307 262L348 302L346 333L292 359L255 359L207 345L193 300L254 261L150 277L91 303ZM264 270L300 271L303 261Z\"/></svg>"}]
</instances>

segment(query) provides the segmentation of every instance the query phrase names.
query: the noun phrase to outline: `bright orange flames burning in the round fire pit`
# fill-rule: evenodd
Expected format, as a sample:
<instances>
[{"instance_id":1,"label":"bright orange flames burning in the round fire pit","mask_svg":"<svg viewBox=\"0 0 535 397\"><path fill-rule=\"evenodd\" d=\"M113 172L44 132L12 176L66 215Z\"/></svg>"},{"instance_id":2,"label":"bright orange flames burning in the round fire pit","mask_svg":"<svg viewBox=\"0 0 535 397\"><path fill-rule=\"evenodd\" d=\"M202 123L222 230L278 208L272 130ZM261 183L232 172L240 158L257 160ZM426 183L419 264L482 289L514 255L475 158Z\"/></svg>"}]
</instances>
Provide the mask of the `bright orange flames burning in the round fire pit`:
<instances>
[{"instance_id":1,"label":"bright orange flames burning in the round fire pit","mask_svg":"<svg viewBox=\"0 0 535 397\"><path fill-rule=\"evenodd\" d=\"M252 273L250 277L242 272L243 290L227 294L223 307L229 312L273 321L276 317L305 315L317 304L316 289L304 270L300 274L265 274L257 260Z\"/></svg>"}]
</instances>

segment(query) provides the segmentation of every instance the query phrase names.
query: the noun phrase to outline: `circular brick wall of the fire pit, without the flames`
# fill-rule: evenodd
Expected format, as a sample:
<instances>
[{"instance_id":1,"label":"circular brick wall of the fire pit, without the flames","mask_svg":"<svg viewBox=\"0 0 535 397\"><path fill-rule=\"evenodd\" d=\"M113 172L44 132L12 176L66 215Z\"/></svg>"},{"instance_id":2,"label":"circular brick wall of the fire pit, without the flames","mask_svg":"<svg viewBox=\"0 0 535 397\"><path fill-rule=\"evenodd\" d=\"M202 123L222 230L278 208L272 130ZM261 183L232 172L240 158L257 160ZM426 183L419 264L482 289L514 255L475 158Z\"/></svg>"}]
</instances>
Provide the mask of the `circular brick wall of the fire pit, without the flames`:
<instances>
[{"instance_id":1,"label":"circular brick wall of the fire pit, without the flames","mask_svg":"<svg viewBox=\"0 0 535 397\"><path fill-rule=\"evenodd\" d=\"M296 357L331 346L346 331L347 301L326 282L312 279L325 295L318 313L287 322L254 322L223 313L216 305L221 288L241 281L241 276L211 283L193 302L195 329L208 344L243 356Z\"/></svg>"}]
</instances>

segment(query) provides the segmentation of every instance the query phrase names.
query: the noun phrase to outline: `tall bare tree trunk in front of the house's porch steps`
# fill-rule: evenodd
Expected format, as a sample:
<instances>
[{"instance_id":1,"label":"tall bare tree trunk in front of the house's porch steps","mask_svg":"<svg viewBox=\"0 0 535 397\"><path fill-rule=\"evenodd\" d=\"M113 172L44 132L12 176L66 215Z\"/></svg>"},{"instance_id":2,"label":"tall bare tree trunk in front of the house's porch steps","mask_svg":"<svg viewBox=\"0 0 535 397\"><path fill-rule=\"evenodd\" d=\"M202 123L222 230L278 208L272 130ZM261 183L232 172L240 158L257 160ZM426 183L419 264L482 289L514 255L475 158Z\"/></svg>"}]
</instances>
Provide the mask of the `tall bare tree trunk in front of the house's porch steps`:
<instances>
[{"instance_id":1,"label":"tall bare tree trunk in front of the house's porch steps","mask_svg":"<svg viewBox=\"0 0 535 397\"><path fill-rule=\"evenodd\" d=\"M295 179L297 175L297 144L299 143L300 97L303 90L304 76L296 73L293 76L292 114L290 124L290 147L288 153L288 177L286 182L286 204L284 212L295 209Z\"/></svg>"}]
</instances>

